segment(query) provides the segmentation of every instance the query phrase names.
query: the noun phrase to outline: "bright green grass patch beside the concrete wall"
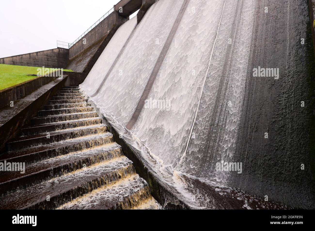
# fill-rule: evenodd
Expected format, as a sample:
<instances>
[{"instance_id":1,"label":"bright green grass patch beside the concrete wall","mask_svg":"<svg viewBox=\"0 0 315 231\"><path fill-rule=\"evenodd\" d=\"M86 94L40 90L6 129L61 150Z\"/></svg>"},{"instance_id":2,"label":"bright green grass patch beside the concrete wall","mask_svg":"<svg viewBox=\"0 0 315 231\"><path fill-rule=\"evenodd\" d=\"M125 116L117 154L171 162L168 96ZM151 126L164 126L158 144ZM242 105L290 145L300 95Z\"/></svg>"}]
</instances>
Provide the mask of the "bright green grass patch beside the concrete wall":
<instances>
[{"instance_id":1,"label":"bright green grass patch beside the concrete wall","mask_svg":"<svg viewBox=\"0 0 315 231\"><path fill-rule=\"evenodd\" d=\"M0 91L5 88L37 78L37 76L28 76L28 74L37 74L37 68L38 67L0 64ZM50 72L53 72L54 70L57 69L50 68Z\"/></svg>"}]
</instances>

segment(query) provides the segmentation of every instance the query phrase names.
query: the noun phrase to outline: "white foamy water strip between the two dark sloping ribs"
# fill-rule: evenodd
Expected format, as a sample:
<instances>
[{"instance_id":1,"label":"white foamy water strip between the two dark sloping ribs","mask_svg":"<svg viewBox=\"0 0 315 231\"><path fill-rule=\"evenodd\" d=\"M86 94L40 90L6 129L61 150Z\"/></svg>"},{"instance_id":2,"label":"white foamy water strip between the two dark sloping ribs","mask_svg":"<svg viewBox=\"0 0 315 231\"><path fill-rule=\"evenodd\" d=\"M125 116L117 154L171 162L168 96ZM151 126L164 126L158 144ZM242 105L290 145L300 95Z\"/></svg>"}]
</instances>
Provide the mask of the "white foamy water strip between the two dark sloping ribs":
<instances>
[{"instance_id":1,"label":"white foamy water strip between the two dark sloping ribs","mask_svg":"<svg viewBox=\"0 0 315 231\"><path fill-rule=\"evenodd\" d=\"M125 125L135 111L182 3L183 0L160 0L150 7L99 94L91 98L103 112ZM102 77L95 75L97 78ZM86 87L81 88L85 92Z\"/></svg>"}]
</instances>

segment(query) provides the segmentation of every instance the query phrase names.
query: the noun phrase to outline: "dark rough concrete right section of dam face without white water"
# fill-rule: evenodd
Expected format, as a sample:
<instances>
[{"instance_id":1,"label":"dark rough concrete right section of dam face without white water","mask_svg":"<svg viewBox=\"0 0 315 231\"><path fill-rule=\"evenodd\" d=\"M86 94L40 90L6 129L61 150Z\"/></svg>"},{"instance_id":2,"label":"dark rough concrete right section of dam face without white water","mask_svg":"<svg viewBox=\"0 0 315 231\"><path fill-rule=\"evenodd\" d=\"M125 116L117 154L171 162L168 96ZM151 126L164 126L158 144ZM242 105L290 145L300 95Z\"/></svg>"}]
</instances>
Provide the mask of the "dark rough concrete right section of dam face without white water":
<instances>
[{"instance_id":1,"label":"dark rough concrete right section of dam face without white water","mask_svg":"<svg viewBox=\"0 0 315 231\"><path fill-rule=\"evenodd\" d=\"M270 6L269 17L260 13L263 4ZM244 161L246 168L241 177L234 175L230 184L295 207L315 208L314 160L310 160L314 155L315 66L308 6L301 0L263 4L256 8L260 16L255 18L249 70L258 65L277 67L280 77L278 81L248 78L235 157ZM277 31L278 36L272 36L271 31ZM301 38L305 38L304 44ZM266 132L268 139L264 138Z\"/></svg>"}]
</instances>

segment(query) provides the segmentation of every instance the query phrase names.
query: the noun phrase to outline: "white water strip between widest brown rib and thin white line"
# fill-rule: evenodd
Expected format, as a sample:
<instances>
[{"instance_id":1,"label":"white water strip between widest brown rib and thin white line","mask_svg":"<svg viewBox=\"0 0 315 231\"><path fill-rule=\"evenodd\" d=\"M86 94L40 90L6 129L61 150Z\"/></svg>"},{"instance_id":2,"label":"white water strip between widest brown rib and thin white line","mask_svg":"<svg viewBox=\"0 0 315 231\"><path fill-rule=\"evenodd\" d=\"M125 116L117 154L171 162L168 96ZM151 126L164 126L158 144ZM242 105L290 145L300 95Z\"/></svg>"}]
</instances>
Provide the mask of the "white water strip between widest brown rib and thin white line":
<instances>
[{"instance_id":1,"label":"white water strip between widest brown rib and thin white line","mask_svg":"<svg viewBox=\"0 0 315 231\"><path fill-rule=\"evenodd\" d=\"M171 108L143 108L134 126L166 165L176 166L185 151L223 4L190 1L148 96L170 100Z\"/></svg>"}]
</instances>

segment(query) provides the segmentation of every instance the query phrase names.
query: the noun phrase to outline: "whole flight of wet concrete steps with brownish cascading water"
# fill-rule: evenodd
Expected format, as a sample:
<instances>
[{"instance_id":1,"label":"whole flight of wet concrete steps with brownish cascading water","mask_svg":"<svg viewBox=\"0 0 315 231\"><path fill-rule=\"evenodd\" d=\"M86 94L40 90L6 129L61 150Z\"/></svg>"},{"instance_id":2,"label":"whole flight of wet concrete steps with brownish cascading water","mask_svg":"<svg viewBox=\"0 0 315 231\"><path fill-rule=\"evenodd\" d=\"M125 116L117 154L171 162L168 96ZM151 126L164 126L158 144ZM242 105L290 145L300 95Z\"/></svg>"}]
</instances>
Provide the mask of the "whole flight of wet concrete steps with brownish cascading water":
<instances>
[{"instance_id":1,"label":"whole flight of wet concrete steps with brownish cascading water","mask_svg":"<svg viewBox=\"0 0 315 231\"><path fill-rule=\"evenodd\" d=\"M0 209L159 209L146 181L107 132L78 87L61 89L7 143Z\"/></svg>"}]
</instances>

